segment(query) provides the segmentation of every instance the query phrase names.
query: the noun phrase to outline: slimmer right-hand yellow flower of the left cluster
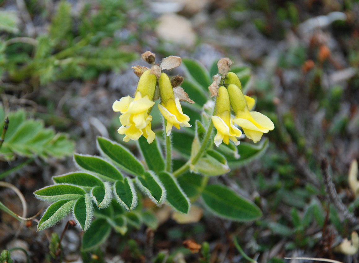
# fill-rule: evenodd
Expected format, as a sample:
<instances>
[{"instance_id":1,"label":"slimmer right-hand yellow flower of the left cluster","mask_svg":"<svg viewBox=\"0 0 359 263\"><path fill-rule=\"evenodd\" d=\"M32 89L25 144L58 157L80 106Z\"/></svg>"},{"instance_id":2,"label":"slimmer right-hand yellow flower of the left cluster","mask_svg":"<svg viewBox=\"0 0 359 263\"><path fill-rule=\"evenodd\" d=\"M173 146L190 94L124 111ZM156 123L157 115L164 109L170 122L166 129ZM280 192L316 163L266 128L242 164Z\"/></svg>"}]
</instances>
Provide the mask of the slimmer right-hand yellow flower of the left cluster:
<instances>
[{"instance_id":1,"label":"slimmer right-hand yellow flower of the left cluster","mask_svg":"<svg viewBox=\"0 0 359 263\"><path fill-rule=\"evenodd\" d=\"M191 127L190 123L188 123L190 117L182 112L180 99L174 98L171 81L167 74L161 73L158 85L162 100L161 104L158 104L158 109L167 120L166 135L169 136L171 134L172 126L177 129L180 126Z\"/></svg>"}]
</instances>

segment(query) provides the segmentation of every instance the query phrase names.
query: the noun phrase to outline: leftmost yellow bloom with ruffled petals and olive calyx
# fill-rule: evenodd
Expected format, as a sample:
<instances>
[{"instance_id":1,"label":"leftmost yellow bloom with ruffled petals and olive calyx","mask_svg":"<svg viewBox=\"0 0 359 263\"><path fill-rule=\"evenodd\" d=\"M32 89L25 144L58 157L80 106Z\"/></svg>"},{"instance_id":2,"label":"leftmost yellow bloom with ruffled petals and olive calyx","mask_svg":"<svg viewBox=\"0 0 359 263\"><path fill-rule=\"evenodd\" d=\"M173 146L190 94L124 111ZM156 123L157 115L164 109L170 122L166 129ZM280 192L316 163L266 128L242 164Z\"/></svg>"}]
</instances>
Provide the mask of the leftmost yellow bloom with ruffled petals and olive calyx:
<instances>
[{"instance_id":1,"label":"leftmost yellow bloom with ruffled petals and olive calyx","mask_svg":"<svg viewBox=\"0 0 359 263\"><path fill-rule=\"evenodd\" d=\"M122 114L122 126L117 132L125 134L123 141L138 140L143 135L149 144L153 142L155 133L151 130L152 116L148 113L155 104L152 99L156 81L156 76L150 74L150 70L146 70L138 82L135 98L127 96L113 103L113 111Z\"/></svg>"}]
</instances>

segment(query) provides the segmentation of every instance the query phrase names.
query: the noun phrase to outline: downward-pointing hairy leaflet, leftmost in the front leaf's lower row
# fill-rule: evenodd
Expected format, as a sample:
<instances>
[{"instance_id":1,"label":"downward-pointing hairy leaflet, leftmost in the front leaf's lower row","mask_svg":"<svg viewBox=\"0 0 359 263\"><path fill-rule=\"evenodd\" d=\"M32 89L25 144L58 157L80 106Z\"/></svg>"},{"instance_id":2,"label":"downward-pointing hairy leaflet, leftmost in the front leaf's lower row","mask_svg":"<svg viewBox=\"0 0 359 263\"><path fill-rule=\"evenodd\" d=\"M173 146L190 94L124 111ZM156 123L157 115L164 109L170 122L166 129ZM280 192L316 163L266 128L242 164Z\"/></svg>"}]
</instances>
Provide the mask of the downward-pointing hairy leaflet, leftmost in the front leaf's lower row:
<instances>
[{"instance_id":1,"label":"downward-pointing hairy leaflet, leftmost in the front leaf's lower row","mask_svg":"<svg viewBox=\"0 0 359 263\"><path fill-rule=\"evenodd\" d=\"M79 198L74 206L74 219L83 231L86 231L92 221L93 205L90 194L85 194Z\"/></svg>"}]
</instances>

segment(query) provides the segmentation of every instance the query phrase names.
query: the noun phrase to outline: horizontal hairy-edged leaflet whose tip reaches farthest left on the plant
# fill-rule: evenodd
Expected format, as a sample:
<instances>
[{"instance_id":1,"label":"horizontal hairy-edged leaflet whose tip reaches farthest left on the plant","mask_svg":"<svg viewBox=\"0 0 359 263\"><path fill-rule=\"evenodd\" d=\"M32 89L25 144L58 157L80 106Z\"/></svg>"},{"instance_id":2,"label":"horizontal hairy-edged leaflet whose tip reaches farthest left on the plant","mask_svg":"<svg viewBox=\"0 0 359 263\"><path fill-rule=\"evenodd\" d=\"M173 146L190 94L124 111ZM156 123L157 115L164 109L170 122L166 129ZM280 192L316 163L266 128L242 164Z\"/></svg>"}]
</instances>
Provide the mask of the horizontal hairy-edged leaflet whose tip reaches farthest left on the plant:
<instances>
[{"instance_id":1,"label":"horizontal hairy-edged leaflet whose tip reaches farthest left on the plant","mask_svg":"<svg viewBox=\"0 0 359 263\"><path fill-rule=\"evenodd\" d=\"M34 192L35 196L45 201L77 200L85 195L84 189L69 184L46 186Z\"/></svg>"}]
</instances>

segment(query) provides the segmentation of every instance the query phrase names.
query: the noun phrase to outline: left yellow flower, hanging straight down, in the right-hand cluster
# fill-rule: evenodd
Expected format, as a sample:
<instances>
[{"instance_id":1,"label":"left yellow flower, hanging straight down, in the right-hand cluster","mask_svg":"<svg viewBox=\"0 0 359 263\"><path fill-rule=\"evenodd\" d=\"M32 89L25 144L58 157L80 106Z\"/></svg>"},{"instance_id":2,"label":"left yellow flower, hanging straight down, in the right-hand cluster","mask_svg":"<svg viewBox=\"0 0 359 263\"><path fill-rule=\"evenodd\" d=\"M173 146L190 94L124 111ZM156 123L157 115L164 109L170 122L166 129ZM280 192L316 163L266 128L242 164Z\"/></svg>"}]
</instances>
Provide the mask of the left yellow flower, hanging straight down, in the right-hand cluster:
<instances>
[{"instance_id":1,"label":"left yellow flower, hanging straight down, in the right-hand cluster","mask_svg":"<svg viewBox=\"0 0 359 263\"><path fill-rule=\"evenodd\" d=\"M214 137L214 143L218 147L222 141L225 144L229 140L233 141L235 145L239 144L236 137L242 135L241 130L233 125L232 118L230 118L229 95L224 86L219 87L218 97L216 99L216 116L212 116L212 122L217 129L217 134Z\"/></svg>"}]
</instances>

